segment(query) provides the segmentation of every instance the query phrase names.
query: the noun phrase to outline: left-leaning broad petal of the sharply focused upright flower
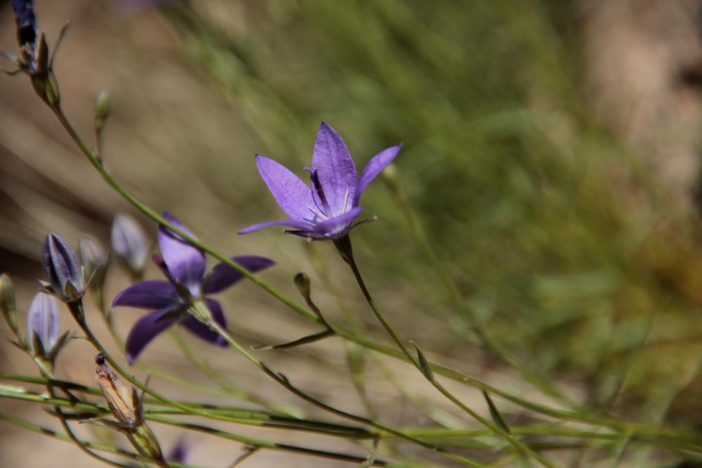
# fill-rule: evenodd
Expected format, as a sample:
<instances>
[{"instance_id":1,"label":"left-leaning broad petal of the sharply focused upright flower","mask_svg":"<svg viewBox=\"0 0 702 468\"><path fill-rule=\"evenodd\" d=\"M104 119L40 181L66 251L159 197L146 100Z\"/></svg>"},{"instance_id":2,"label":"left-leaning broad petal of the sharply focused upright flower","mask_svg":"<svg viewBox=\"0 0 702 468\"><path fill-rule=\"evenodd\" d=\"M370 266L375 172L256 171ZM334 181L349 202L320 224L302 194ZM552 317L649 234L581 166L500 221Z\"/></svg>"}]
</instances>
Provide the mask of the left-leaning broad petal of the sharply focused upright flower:
<instances>
[{"instance_id":1,"label":"left-leaning broad petal of the sharply focused upright flower","mask_svg":"<svg viewBox=\"0 0 702 468\"><path fill-rule=\"evenodd\" d=\"M256 166L278 206L293 220L310 216L314 206L310 187L281 163L256 154Z\"/></svg>"}]
</instances>

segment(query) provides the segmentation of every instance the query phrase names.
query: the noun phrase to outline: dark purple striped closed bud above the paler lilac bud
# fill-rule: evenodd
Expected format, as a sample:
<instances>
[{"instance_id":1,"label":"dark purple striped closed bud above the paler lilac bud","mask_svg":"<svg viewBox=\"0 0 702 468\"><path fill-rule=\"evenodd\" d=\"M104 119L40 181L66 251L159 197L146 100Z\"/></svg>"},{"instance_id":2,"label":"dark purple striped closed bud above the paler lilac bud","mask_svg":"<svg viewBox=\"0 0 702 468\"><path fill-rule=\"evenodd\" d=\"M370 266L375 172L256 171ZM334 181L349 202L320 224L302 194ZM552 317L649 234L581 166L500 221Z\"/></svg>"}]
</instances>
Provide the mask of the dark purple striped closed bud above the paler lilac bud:
<instances>
[{"instance_id":1,"label":"dark purple striped closed bud above the paler lilac bud","mask_svg":"<svg viewBox=\"0 0 702 468\"><path fill-rule=\"evenodd\" d=\"M74 250L61 236L51 232L44 239L41 264L53 292L67 300L77 299L84 289L83 269Z\"/></svg>"}]
</instances>

